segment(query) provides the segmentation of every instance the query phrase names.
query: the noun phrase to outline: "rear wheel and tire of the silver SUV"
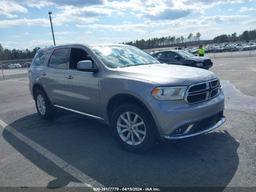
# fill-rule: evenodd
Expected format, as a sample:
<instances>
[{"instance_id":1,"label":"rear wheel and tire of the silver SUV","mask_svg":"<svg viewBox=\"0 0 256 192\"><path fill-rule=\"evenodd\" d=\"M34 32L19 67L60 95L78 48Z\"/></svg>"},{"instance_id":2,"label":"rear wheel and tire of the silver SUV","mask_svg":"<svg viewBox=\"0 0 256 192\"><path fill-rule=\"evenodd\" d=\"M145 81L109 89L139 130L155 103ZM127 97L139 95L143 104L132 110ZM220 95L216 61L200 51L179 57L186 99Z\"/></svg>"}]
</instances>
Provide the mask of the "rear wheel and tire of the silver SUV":
<instances>
[{"instance_id":1,"label":"rear wheel and tire of the silver SUV","mask_svg":"<svg viewBox=\"0 0 256 192\"><path fill-rule=\"evenodd\" d=\"M43 119L52 119L56 114L56 109L50 104L48 97L42 90L38 90L35 95L36 110Z\"/></svg>"}]
</instances>

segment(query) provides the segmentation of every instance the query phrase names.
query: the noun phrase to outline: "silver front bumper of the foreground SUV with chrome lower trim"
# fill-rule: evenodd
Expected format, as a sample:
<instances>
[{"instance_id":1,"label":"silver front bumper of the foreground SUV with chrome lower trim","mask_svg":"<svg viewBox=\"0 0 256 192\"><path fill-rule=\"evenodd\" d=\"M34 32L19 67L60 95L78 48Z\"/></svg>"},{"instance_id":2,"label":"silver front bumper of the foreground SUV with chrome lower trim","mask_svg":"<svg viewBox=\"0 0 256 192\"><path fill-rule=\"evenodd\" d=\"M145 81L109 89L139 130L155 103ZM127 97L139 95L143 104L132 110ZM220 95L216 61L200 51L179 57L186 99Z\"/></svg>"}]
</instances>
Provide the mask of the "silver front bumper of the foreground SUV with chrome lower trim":
<instances>
[{"instance_id":1,"label":"silver front bumper of the foreground SUV with chrome lower trim","mask_svg":"<svg viewBox=\"0 0 256 192\"><path fill-rule=\"evenodd\" d=\"M184 136L194 136L213 130L226 120L223 116L223 92L210 100L196 104L187 104L184 100L159 101L154 99L148 104L148 109L155 120L159 135L168 139L172 139L172 134L182 126L194 124L190 132L180 136L184 138ZM204 125L201 130L194 130L200 122L216 114L220 114L216 123ZM177 138L179 136L175 136L175 139Z\"/></svg>"}]
</instances>

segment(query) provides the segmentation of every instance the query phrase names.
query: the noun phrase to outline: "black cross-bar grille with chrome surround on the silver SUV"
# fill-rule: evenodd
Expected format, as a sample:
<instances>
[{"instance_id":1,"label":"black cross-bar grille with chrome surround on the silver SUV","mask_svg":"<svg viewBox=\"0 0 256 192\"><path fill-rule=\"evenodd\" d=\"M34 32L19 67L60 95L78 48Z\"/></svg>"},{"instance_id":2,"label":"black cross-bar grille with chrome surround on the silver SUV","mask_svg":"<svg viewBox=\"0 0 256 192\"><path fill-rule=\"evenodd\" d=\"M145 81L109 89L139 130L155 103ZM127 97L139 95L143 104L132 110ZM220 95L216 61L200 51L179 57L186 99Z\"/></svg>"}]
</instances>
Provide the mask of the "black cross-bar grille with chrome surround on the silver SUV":
<instances>
[{"instance_id":1,"label":"black cross-bar grille with chrome surround on the silver SUV","mask_svg":"<svg viewBox=\"0 0 256 192\"><path fill-rule=\"evenodd\" d=\"M190 85L184 99L188 104L209 100L219 94L218 87L218 79Z\"/></svg>"}]
</instances>

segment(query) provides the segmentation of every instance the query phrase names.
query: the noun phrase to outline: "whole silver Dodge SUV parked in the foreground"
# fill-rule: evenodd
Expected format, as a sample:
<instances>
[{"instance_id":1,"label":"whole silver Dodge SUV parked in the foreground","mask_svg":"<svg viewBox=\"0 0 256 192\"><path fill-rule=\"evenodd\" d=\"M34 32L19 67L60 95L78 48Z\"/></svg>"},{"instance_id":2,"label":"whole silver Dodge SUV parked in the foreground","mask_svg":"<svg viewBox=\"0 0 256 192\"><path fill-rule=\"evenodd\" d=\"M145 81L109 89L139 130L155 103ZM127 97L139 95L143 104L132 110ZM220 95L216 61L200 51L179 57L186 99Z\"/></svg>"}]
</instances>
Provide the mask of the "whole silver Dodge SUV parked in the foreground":
<instances>
[{"instance_id":1,"label":"whole silver Dodge SUV parked in the foreground","mask_svg":"<svg viewBox=\"0 0 256 192\"><path fill-rule=\"evenodd\" d=\"M180 139L222 125L224 94L210 71L163 64L133 46L68 44L38 50L29 69L38 114L56 109L112 128L126 150L142 152L156 139Z\"/></svg>"}]
</instances>

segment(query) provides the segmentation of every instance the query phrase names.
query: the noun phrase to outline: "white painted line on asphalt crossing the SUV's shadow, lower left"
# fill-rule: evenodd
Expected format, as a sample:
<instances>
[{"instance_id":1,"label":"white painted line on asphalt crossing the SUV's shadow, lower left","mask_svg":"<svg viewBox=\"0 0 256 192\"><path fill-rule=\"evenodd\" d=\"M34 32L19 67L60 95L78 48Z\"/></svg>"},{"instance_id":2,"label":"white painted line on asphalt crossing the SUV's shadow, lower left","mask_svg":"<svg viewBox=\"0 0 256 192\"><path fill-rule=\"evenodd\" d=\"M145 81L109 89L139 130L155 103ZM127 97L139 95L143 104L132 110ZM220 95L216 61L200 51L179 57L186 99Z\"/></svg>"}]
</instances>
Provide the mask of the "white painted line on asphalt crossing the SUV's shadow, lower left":
<instances>
[{"instance_id":1,"label":"white painted line on asphalt crossing the SUV's shadow, lower left","mask_svg":"<svg viewBox=\"0 0 256 192\"><path fill-rule=\"evenodd\" d=\"M34 142L30 138L24 136L22 133L18 132L16 129L12 128L2 120L0 120L0 126L4 129L8 130L14 136L22 140L28 146L32 147L34 150L42 154L44 157L49 159L51 162L56 164L58 167L66 171L68 174L72 175L76 179L80 180L85 186L90 187L92 190L94 187L104 187L102 184L91 178L90 176L84 174L74 166L68 164L58 156L54 155L52 152L48 151L46 148L40 146L38 143ZM1 130L2 131L2 130Z\"/></svg>"}]
</instances>

